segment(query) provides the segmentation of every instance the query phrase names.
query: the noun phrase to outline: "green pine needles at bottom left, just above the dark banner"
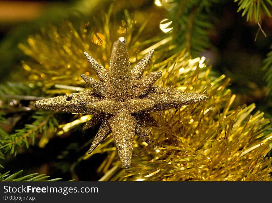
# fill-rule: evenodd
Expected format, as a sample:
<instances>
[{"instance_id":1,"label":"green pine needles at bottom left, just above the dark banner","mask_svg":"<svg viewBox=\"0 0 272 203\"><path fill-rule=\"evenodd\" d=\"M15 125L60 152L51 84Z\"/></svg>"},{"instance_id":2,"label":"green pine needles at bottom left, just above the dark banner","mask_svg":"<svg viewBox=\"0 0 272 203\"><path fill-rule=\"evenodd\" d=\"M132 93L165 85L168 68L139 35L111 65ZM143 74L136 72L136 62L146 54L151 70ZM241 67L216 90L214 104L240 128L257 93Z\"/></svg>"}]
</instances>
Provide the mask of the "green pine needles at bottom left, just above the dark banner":
<instances>
[{"instance_id":1,"label":"green pine needles at bottom left, just above the dark banner","mask_svg":"<svg viewBox=\"0 0 272 203\"><path fill-rule=\"evenodd\" d=\"M18 171L17 173L9 175L10 171L7 171L4 174L0 174L0 181L13 181L13 182L19 182L19 181L57 181L61 180L61 178L54 178L49 179L50 176L46 176L45 174L37 175L38 173L32 173L23 177L18 177L21 173L23 173L23 170Z\"/></svg>"}]
</instances>

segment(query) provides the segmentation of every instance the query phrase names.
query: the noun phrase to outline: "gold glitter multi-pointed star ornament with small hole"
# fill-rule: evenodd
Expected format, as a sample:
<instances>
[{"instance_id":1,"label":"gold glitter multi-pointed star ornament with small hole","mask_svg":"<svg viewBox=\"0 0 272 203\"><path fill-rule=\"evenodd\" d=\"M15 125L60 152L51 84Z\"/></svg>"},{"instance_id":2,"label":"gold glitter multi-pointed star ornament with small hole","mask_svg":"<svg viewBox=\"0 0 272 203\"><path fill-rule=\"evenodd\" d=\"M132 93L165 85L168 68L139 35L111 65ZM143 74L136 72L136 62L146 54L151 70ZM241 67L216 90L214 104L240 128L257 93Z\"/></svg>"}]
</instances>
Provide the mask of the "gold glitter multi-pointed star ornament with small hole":
<instances>
[{"instance_id":1,"label":"gold glitter multi-pointed star ornament with small hole","mask_svg":"<svg viewBox=\"0 0 272 203\"><path fill-rule=\"evenodd\" d=\"M147 126L155 121L150 113L188 104L203 102L206 95L176 90L174 87L158 87L154 83L162 76L160 71L151 72L144 78L154 50L130 69L130 61L124 37L113 44L109 70L84 52L99 81L80 75L91 87L70 95L41 99L36 108L91 114L84 126L88 129L102 123L88 153L91 153L111 132L123 168L130 167L135 134L156 149L154 138Z\"/></svg>"}]
</instances>

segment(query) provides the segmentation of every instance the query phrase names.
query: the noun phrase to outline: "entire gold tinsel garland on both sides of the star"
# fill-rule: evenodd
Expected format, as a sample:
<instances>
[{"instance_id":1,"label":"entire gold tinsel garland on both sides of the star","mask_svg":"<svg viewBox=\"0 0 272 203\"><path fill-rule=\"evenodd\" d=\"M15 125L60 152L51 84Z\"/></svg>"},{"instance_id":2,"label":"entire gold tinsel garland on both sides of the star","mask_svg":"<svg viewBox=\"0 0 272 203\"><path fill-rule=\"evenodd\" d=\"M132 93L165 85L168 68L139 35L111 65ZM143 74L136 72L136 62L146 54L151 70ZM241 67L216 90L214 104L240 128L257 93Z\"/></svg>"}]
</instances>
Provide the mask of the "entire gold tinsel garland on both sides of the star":
<instances>
[{"instance_id":1,"label":"entire gold tinsel garland on both sides of the star","mask_svg":"<svg viewBox=\"0 0 272 203\"><path fill-rule=\"evenodd\" d=\"M266 154L270 150L272 134L266 133L270 121L263 117L263 113L253 113L254 104L233 109L235 95L226 88L229 79L224 75L218 78L213 76L204 58L191 59L184 51L161 61L160 58L164 58L161 57L162 53L171 49L169 46L163 48L164 43L171 38L151 38L143 42L139 36L146 36L146 39L148 36L140 35L143 30L141 26L140 31L133 34L134 24L126 16L127 21L122 21L124 27L122 23L121 26L120 23L112 23L109 12L104 17L103 26L95 23L96 26L100 25L96 32L90 23L76 31L72 23L67 22L59 27L52 26L49 30L42 29L41 35L29 37L29 45L21 44L20 48L38 63L22 62L24 69L30 73L28 79L44 81L47 94L69 94L70 87L49 88L54 84L55 87L56 84L83 84L79 75L84 71L94 76L94 73L88 72L84 51L107 68L112 42L125 34L131 56L142 50L139 48L141 45L146 48L147 44L157 43L155 47L138 53L140 58L155 49L157 55L154 58L158 63L148 71L162 71L163 77L157 85L207 93L210 99L202 104L154 113L158 126L151 128L151 133L161 148L153 150L136 138L132 164L127 170L121 168L112 136L108 136L92 154L86 153L78 161L107 152L107 158L101 161L97 169L104 174L101 181L271 181L271 158L266 158ZM131 63L137 58L131 57ZM63 75L59 75L60 72ZM90 116L78 115L75 118L73 122L60 125L61 130L56 130L56 134L61 136L73 126L86 122Z\"/></svg>"}]
</instances>

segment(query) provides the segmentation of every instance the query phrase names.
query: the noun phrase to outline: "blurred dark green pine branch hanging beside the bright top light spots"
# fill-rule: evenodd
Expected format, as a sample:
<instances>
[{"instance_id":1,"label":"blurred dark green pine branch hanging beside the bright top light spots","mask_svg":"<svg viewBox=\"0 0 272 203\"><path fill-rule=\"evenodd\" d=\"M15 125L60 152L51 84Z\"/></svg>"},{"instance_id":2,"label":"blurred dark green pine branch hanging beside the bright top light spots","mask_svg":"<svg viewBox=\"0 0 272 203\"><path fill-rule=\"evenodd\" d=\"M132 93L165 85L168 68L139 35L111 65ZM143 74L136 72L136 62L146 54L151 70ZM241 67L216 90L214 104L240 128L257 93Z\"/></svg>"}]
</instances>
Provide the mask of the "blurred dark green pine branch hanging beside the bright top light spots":
<instances>
[{"instance_id":1,"label":"blurred dark green pine branch hanging beside the bright top light spots","mask_svg":"<svg viewBox=\"0 0 272 203\"><path fill-rule=\"evenodd\" d=\"M213 30L213 17L210 9L218 0L175 0L174 3L176 6L169 16L173 22L174 42L179 50L186 48L196 57L200 51L212 47L209 33Z\"/></svg>"}]
</instances>

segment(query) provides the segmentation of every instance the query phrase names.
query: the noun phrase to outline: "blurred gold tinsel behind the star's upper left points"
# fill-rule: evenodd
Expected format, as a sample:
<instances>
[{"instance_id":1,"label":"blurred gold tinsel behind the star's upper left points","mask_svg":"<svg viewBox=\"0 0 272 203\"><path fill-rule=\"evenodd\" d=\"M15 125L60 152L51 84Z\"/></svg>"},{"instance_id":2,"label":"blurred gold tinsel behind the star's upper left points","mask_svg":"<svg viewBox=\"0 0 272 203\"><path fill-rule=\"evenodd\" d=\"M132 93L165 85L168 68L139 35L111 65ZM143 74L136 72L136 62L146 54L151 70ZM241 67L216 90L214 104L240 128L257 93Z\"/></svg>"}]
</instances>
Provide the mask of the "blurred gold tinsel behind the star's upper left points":
<instances>
[{"instance_id":1,"label":"blurred gold tinsel behind the star's upper left points","mask_svg":"<svg viewBox=\"0 0 272 203\"><path fill-rule=\"evenodd\" d=\"M95 73L89 68L84 52L108 68L113 41L119 37L126 38L130 47L129 54L133 56L130 58L131 63L151 51L152 47L149 45L162 40L158 36L151 37L154 36L152 35L154 30L149 30L147 26L147 23L151 22L148 15L144 16L145 22L140 24L127 10L116 13L113 5L107 13L100 15L101 19L92 16L87 22L66 21L58 26L42 27L40 34L28 37L28 44L19 44L19 49L32 58L29 61L21 61L24 70L27 71L26 78L29 81L43 82L47 93L61 93L47 89L55 84L84 86L80 77L83 73L96 78ZM117 20L117 15L120 16L120 20ZM153 49L170 40L168 37ZM150 49L142 51L143 47Z\"/></svg>"}]
</instances>

